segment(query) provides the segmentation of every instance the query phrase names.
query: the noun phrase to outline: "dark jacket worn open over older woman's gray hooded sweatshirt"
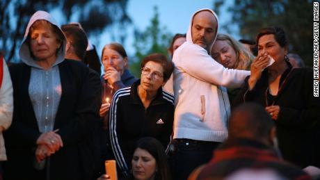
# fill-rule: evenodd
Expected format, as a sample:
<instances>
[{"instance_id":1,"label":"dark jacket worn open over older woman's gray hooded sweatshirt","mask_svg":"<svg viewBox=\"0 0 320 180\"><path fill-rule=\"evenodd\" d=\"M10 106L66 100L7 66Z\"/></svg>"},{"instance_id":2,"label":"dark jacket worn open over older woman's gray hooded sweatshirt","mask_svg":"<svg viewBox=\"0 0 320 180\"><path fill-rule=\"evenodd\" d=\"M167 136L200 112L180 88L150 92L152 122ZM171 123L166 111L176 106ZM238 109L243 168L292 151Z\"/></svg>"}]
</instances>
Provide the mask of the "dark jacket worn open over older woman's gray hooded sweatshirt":
<instances>
[{"instance_id":1,"label":"dark jacket worn open over older woman's gray hooded sweatshirt","mask_svg":"<svg viewBox=\"0 0 320 180\"><path fill-rule=\"evenodd\" d=\"M33 167L40 131L28 90L31 67L24 63L10 66L15 111L13 124L4 134L8 152L5 179L45 179L46 174L50 179L94 177L101 106L99 76L75 60L64 60L58 67L62 95L54 129L59 129L63 147L51 154L45 170L38 171Z\"/></svg>"}]
</instances>

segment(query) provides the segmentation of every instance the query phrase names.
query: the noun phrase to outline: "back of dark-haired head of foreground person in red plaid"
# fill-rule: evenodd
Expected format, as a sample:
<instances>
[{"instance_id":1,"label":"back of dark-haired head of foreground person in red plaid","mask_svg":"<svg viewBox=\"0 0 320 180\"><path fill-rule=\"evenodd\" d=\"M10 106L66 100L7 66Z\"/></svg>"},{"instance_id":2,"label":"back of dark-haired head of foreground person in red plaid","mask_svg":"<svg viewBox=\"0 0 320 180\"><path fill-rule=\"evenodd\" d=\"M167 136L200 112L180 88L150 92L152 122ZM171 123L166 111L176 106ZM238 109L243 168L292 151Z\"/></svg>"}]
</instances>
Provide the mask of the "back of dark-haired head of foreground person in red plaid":
<instances>
[{"instance_id":1,"label":"back of dark-haired head of foreground person in red plaid","mask_svg":"<svg viewBox=\"0 0 320 180\"><path fill-rule=\"evenodd\" d=\"M268 140L274 123L271 116L259 104L242 104L232 111L229 123L229 138Z\"/></svg>"}]
</instances>

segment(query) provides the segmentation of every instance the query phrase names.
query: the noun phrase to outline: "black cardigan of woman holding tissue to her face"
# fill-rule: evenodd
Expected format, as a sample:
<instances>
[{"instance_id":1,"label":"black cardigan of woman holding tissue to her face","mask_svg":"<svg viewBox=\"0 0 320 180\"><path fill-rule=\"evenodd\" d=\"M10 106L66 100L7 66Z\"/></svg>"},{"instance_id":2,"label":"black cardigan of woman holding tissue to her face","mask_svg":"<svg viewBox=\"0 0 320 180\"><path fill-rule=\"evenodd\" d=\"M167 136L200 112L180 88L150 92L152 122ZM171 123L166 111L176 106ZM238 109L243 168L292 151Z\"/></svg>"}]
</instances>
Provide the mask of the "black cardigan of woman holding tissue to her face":
<instances>
[{"instance_id":1,"label":"black cardigan of woman holding tissue to her face","mask_svg":"<svg viewBox=\"0 0 320 180\"><path fill-rule=\"evenodd\" d=\"M271 106L272 102L274 106L280 106L275 124L283 158L301 167L319 167L320 98L313 96L312 69L291 69L289 66L281 76L276 97L271 97L267 91L267 70L253 90L248 90L248 78L233 105L255 101L262 106Z\"/></svg>"}]
</instances>

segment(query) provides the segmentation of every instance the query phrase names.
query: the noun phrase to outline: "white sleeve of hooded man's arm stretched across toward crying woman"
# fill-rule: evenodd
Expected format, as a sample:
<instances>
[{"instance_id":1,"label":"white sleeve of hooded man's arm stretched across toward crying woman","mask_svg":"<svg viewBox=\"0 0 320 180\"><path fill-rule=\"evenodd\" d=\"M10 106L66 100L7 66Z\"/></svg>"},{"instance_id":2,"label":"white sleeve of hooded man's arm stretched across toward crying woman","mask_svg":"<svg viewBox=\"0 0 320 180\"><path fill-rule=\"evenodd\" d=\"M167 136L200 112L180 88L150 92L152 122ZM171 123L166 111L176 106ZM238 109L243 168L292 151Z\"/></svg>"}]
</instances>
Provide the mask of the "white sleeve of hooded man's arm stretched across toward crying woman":
<instances>
[{"instance_id":1,"label":"white sleeve of hooded man's arm stretched across toward crying woman","mask_svg":"<svg viewBox=\"0 0 320 180\"><path fill-rule=\"evenodd\" d=\"M250 75L249 71L223 67L205 49L195 44L189 44L175 57L178 57L180 68L190 76L227 88L239 88L246 76Z\"/></svg>"}]
</instances>

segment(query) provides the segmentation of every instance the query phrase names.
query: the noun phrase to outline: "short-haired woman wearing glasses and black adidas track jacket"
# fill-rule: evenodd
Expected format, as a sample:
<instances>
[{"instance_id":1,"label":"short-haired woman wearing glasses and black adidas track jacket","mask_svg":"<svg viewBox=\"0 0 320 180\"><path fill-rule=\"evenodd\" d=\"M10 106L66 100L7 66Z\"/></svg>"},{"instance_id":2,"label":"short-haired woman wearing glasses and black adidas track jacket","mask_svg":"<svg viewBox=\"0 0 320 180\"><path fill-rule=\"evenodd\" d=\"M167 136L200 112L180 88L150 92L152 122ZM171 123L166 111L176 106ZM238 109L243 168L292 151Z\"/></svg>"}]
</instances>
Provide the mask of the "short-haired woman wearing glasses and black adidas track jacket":
<instances>
[{"instance_id":1,"label":"short-haired woman wearing glasses and black adidas track jacket","mask_svg":"<svg viewBox=\"0 0 320 180\"><path fill-rule=\"evenodd\" d=\"M128 177L136 140L151 136L166 149L173 131L174 97L162 90L173 72L173 63L162 54L151 54L141 63L141 79L115 92L110 108L111 147L120 177Z\"/></svg>"}]
</instances>

